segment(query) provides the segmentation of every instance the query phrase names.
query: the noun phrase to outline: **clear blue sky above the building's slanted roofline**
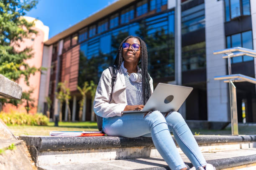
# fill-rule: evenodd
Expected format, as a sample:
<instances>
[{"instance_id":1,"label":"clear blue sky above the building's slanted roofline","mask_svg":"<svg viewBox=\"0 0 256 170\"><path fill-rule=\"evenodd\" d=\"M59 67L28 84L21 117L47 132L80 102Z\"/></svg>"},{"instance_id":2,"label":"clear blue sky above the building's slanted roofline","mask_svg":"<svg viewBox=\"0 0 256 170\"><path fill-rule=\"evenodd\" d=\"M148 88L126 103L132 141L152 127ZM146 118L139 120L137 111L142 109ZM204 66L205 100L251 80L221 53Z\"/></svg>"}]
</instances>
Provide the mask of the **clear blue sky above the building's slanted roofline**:
<instances>
[{"instance_id":1,"label":"clear blue sky above the building's slanted roofline","mask_svg":"<svg viewBox=\"0 0 256 170\"><path fill-rule=\"evenodd\" d=\"M26 16L49 27L49 38L79 23L116 0L38 0Z\"/></svg>"}]
</instances>

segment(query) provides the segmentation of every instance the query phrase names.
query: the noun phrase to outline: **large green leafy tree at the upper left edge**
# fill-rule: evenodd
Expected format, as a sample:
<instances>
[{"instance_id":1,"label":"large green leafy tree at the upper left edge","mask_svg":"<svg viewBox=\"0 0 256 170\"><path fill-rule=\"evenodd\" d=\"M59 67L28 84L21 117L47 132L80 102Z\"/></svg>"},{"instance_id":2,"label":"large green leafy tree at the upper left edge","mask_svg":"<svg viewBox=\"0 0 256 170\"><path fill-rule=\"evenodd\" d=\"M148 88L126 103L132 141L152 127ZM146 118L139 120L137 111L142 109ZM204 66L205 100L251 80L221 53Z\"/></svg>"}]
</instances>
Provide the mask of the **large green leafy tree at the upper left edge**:
<instances>
[{"instance_id":1,"label":"large green leafy tree at the upper left edge","mask_svg":"<svg viewBox=\"0 0 256 170\"><path fill-rule=\"evenodd\" d=\"M37 3L38 0L0 0L0 74L13 81L18 81L20 77L23 77L28 86L30 75L44 68L30 67L25 62L33 57L31 47L17 49L23 39L37 33L32 28L34 23L29 23L22 17ZM33 102L30 94L29 91L23 92L22 98L25 100L20 100L20 102ZM19 103L18 100L6 99L0 99L0 102L10 102L16 106Z\"/></svg>"}]
</instances>

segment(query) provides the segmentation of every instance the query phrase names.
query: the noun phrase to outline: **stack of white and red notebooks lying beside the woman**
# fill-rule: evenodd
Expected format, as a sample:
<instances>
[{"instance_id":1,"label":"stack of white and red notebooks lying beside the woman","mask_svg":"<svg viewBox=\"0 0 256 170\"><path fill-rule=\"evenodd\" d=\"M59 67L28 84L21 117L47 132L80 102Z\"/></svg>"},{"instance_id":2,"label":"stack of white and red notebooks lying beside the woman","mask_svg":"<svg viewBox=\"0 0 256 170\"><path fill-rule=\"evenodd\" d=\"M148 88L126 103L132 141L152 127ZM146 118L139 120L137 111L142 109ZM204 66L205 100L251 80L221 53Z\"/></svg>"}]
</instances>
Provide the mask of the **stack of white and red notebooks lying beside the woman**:
<instances>
[{"instance_id":1,"label":"stack of white and red notebooks lying beside the woman","mask_svg":"<svg viewBox=\"0 0 256 170\"><path fill-rule=\"evenodd\" d=\"M104 136L101 131L51 131L50 136Z\"/></svg>"}]
</instances>

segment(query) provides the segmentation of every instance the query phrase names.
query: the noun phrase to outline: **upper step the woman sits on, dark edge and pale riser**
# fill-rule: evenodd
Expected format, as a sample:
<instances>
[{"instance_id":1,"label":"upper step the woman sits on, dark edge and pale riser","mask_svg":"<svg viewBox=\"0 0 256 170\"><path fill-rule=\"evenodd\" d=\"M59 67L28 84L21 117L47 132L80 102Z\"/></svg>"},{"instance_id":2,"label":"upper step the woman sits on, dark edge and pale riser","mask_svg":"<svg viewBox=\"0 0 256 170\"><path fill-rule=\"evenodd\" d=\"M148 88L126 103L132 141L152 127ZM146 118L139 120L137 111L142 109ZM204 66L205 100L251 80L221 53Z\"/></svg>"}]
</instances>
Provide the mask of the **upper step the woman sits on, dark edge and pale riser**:
<instances>
[{"instance_id":1,"label":"upper step the woman sits on, dark edge and pale riser","mask_svg":"<svg viewBox=\"0 0 256 170\"><path fill-rule=\"evenodd\" d=\"M143 137L20 136L19 139L26 142L38 167L160 156L152 139ZM256 135L197 135L195 139L202 153L250 149L256 145ZM179 153L183 154L182 150Z\"/></svg>"}]
</instances>

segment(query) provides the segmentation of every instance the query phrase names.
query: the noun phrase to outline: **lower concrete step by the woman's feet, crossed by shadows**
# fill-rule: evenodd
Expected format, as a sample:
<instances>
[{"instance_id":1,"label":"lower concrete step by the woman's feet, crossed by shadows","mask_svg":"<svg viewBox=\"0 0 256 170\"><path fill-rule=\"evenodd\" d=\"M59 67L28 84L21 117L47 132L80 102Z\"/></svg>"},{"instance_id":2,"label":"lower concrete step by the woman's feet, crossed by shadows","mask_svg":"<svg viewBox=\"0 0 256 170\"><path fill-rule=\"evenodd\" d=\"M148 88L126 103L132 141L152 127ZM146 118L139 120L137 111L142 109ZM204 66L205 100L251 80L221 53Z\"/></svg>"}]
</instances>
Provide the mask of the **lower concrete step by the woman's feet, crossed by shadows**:
<instances>
[{"instance_id":1,"label":"lower concrete step by the woman's feet, crossed by shadows","mask_svg":"<svg viewBox=\"0 0 256 170\"><path fill-rule=\"evenodd\" d=\"M256 148L203 153L207 163L216 170L256 170ZM181 154L184 163L192 167L186 155ZM234 157L235 156L235 157ZM161 157L108 160L91 163L39 166L39 170L169 170Z\"/></svg>"}]
</instances>

